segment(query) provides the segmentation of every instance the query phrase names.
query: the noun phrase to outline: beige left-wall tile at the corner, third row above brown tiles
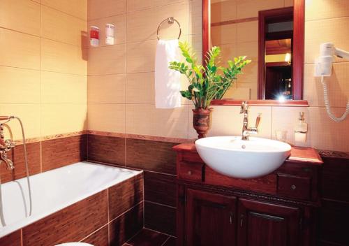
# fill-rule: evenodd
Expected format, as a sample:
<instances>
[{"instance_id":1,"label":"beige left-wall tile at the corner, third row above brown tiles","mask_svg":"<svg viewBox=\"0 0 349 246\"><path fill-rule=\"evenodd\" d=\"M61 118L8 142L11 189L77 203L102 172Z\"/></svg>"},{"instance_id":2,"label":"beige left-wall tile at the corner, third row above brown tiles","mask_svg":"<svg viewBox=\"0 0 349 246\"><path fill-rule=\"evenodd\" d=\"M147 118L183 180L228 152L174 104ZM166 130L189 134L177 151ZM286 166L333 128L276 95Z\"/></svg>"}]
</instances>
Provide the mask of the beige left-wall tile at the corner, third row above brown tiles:
<instances>
[{"instance_id":1,"label":"beige left-wall tile at the corner, third row above brown tiles","mask_svg":"<svg viewBox=\"0 0 349 246\"><path fill-rule=\"evenodd\" d=\"M87 60L79 46L41 38L41 69L86 75Z\"/></svg>"}]
</instances>

